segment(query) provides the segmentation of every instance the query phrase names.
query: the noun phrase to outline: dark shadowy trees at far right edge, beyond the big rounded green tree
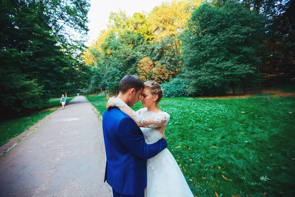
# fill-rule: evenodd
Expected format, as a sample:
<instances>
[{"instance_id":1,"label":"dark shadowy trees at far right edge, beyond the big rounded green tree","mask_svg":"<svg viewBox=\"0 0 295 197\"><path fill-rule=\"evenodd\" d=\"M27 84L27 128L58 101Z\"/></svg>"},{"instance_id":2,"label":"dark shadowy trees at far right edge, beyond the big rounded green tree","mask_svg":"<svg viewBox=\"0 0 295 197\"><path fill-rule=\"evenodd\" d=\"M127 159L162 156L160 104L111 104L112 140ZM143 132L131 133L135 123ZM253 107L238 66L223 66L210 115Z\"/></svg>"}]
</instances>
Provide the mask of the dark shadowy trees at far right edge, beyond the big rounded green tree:
<instances>
[{"instance_id":1,"label":"dark shadowy trees at far right edge, beyond the big rounded green tree","mask_svg":"<svg viewBox=\"0 0 295 197\"><path fill-rule=\"evenodd\" d=\"M267 20L263 79L272 85L288 84L295 80L295 1L282 2L275 9Z\"/></svg>"}]
</instances>

